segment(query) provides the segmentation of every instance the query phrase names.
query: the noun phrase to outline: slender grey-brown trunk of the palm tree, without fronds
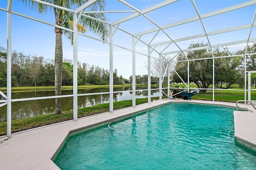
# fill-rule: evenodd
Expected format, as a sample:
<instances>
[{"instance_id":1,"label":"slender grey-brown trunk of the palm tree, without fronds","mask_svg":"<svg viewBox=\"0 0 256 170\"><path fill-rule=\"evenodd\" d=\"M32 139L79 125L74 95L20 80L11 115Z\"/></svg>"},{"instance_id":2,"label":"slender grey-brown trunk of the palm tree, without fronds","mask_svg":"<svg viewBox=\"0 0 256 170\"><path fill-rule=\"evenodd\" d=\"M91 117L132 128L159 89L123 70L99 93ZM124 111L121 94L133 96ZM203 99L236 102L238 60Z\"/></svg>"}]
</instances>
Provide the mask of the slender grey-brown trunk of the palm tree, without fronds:
<instances>
[{"instance_id":1,"label":"slender grey-brown trunk of the palm tree, without fronds","mask_svg":"<svg viewBox=\"0 0 256 170\"><path fill-rule=\"evenodd\" d=\"M57 20L56 25L62 26L62 20ZM61 95L62 84L62 29L55 28L56 42L55 42L55 95ZM61 98L55 99L55 114L61 114Z\"/></svg>"}]
</instances>

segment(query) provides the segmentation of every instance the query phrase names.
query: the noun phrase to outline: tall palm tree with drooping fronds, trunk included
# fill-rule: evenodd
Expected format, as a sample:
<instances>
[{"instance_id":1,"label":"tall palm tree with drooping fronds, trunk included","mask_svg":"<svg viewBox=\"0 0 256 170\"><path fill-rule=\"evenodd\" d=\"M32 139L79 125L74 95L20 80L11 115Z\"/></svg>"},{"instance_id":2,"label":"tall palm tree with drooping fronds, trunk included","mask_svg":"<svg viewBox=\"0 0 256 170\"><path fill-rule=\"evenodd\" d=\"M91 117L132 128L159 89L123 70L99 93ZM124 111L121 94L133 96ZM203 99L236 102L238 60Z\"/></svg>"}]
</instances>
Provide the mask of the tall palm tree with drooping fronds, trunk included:
<instances>
[{"instance_id":1,"label":"tall palm tree with drooping fronds, trunk included","mask_svg":"<svg viewBox=\"0 0 256 170\"><path fill-rule=\"evenodd\" d=\"M62 6L68 9L78 8L82 4L86 3L89 0L41 0L44 2L48 2L50 4ZM37 2L31 2L28 0L22 0L23 4L29 4L31 9L38 11L41 13L47 13L53 9L55 15L55 22L57 26L62 26L64 28L73 29L73 14L68 11L60 10L58 8L54 8L51 6L47 6L45 4L40 4ZM91 11L104 11L105 10L105 0L98 0L96 3L90 6ZM107 21L108 19L105 17L103 13L91 13L86 14L88 16ZM93 20L91 18L82 16L80 20L80 24L78 25L78 31L85 32L85 28L90 30L94 34L98 34L102 40L106 41L109 33L108 33L108 25L99 22L98 20ZM63 53L62 53L62 34L70 40L73 44L73 32L69 32L67 30L62 30L61 28L55 27L54 29L56 33L56 42L55 42L55 95L61 95L61 85L62 85L62 61L63 61ZM61 114L61 98L55 99L55 114Z\"/></svg>"}]
</instances>

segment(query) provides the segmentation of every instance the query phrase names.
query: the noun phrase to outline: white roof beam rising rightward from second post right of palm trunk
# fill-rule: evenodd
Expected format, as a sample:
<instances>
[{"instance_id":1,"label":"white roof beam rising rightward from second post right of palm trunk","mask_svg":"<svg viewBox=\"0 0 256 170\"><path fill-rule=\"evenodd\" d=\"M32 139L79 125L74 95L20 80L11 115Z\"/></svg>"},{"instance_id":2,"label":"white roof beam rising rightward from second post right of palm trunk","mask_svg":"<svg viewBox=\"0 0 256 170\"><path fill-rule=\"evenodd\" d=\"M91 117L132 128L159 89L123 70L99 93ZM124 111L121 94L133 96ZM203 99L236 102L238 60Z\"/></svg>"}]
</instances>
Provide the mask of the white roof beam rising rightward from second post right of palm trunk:
<instances>
[{"instance_id":1,"label":"white roof beam rising rightward from second post right of palm trunk","mask_svg":"<svg viewBox=\"0 0 256 170\"><path fill-rule=\"evenodd\" d=\"M118 24L118 23L128 21L128 20L130 20L130 19L132 19L132 18L135 18L135 17L137 17L137 16L141 16L141 15L143 15L143 14L146 14L146 13L148 13L148 12L150 12L150 11L156 10L156 9L158 9L158 8L161 8L161 7L163 7L163 6L166 6L166 5L171 4L171 3L173 3L173 2L176 2L176 1L178 1L178 0L166 0L166 1L160 2L160 3L158 3L158 4L156 4L156 5L153 5L153 6L149 7L149 8L146 8L146 9L144 9L144 10L141 10L140 12L136 12L135 14L132 14L132 15L130 15L130 16L127 16L127 17L124 17L124 18L122 18L122 19L120 19L120 20L117 20L117 21L115 21L115 22L112 22L110 26L114 26L114 25L116 25L116 24ZM122 2L122 1L120 1L120 2ZM136 35L136 36L140 36L140 35Z\"/></svg>"}]
</instances>

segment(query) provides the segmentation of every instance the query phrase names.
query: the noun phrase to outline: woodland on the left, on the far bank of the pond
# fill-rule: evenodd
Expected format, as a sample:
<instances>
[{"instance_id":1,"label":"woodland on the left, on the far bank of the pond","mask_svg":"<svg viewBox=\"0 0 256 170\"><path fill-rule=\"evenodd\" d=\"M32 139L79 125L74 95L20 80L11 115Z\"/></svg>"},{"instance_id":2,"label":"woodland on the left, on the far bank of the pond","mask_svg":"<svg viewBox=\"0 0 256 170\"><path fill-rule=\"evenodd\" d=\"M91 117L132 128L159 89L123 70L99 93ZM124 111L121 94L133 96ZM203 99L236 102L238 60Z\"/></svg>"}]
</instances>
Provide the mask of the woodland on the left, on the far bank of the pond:
<instances>
[{"instance_id":1,"label":"woodland on the left, on the far bank of the pond","mask_svg":"<svg viewBox=\"0 0 256 170\"><path fill-rule=\"evenodd\" d=\"M25 55L16 50L11 53L12 86L54 86L54 60L42 56ZM7 53L0 46L0 87L6 87ZM62 85L73 85L72 60L64 59L62 63ZM99 66L78 61L78 85L108 85L109 70ZM113 73L114 85L122 84L125 79Z\"/></svg>"}]
</instances>

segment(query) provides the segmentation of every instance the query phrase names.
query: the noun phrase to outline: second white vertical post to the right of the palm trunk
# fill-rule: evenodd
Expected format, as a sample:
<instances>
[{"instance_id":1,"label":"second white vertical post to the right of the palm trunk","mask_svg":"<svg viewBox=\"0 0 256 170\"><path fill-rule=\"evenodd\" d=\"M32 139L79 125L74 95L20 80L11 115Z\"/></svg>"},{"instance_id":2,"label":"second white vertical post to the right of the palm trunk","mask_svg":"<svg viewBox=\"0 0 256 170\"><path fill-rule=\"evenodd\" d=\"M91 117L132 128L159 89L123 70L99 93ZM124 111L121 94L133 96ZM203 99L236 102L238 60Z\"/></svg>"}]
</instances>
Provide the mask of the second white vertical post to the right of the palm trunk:
<instances>
[{"instance_id":1,"label":"second white vertical post to the right of the palm trunk","mask_svg":"<svg viewBox=\"0 0 256 170\"><path fill-rule=\"evenodd\" d=\"M114 93L114 81L113 81L113 26L110 26L109 28L109 111L113 112L113 93Z\"/></svg>"}]
</instances>

